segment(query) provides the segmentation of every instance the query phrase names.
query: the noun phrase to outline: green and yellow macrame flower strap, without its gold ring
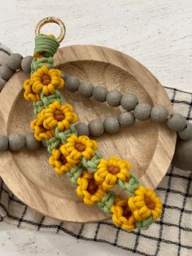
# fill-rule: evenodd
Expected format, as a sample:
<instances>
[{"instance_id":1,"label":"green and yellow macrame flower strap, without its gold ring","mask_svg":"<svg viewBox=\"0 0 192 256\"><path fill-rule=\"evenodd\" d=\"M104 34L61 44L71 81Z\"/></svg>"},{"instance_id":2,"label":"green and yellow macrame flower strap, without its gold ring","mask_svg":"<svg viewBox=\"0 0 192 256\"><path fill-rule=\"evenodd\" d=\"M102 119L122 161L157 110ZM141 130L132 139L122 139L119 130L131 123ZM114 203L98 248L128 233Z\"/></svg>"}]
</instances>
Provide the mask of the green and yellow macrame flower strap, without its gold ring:
<instances>
[{"instance_id":1,"label":"green and yellow macrame flower strap, without its gold ring","mask_svg":"<svg viewBox=\"0 0 192 256\"><path fill-rule=\"evenodd\" d=\"M129 173L129 161L105 159L96 141L76 135L76 113L72 105L63 104L59 93L64 86L62 73L52 68L58 47L53 36L41 34L36 38L31 77L24 82L24 98L33 101L37 114L31 123L34 136L38 141L46 139L50 166L57 174L68 175L86 205L97 204L111 215L116 226L125 230L146 229L159 218L161 201L155 192L139 184L135 174ZM111 191L118 184L129 196L120 198Z\"/></svg>"}]
</instances>

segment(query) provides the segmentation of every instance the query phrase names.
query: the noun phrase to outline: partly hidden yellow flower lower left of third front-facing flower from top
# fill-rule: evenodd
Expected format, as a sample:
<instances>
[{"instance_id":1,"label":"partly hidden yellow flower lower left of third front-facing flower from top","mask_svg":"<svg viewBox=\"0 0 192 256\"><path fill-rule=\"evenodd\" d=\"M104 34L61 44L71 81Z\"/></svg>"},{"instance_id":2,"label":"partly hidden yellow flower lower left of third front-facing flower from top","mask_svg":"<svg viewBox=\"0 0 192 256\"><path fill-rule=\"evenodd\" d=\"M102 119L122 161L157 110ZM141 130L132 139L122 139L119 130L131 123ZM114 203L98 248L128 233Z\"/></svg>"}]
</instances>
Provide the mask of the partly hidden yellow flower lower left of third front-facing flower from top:
<instances>
[{"instance_id":1,"label":"partly hidden yellow flower lower left of third front-facing flower from top","mask_svg":"<svg viewBox=\"0 0 192 256\"><path fill-rule=\"evenodd\" d=\"M63 156L59 148L52 150L52 156L50 157L50 166L55 169L57 174L65 174L72 169L72 165L68 163L66 157Z\"/></svg>"}]
</instances>

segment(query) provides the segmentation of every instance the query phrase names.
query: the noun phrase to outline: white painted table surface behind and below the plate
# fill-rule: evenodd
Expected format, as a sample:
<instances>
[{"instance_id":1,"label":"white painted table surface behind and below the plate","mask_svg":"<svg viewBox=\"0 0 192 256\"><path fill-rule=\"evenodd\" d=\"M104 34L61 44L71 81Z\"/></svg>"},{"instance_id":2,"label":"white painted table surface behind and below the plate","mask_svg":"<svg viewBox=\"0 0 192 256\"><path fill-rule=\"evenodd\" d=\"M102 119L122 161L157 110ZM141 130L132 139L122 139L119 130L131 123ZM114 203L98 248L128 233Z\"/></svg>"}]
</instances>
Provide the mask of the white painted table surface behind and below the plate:
<instances>
[{"instance_id":1,"label":"white painted table surface behind and below the plate","mask_svg":"<svg viewBox=\"0 0 192 256\"><path fill-rule=\"evenodd\" d=\"M48 15L66 24L62 46L96 44L124 51L149 68L164 86L192 92L192 1L0 0L0 42L12 51L31 55L34 27ZM46 27L43 32L48 31ZM133 255L110 245L0 223L0 255L33 254Z\"/></svg>"}]
</instances>

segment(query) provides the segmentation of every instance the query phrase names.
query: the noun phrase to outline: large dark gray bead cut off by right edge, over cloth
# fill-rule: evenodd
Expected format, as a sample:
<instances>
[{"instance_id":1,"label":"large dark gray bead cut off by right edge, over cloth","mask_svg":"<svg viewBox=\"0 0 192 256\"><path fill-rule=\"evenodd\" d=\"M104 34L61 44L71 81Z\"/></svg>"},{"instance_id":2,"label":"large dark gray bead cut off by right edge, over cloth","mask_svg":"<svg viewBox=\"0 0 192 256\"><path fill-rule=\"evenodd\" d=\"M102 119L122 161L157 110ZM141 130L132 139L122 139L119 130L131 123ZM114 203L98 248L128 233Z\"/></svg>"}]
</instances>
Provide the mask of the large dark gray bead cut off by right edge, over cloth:
<instances>
[{"instance_id":1,"label":"large dark gray bead cut off by right edge, over cloth","mask_svg":"<svg viewBox=\"0 0 192 256\"><path fill-rule=\"evenodd\" d=\"M192 139L177 141L172 164L181 170L192 170Z\"/></svg>"}]
</instances>

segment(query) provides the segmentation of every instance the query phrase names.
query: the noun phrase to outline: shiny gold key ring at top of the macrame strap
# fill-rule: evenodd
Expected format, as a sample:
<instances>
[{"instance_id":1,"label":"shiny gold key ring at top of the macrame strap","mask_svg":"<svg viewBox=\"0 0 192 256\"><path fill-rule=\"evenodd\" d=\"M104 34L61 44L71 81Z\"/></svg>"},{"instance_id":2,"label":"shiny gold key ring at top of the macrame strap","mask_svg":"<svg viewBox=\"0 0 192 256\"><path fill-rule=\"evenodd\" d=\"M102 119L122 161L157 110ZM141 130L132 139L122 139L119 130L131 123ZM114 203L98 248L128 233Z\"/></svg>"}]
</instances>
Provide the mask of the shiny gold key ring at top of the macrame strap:
<instances>
[{"instance_id":1,"label":"shiny gold key ring at top of the macrame strap","mask_svg":"<svg viewBox=\"0 0 192 256\"><path fill-rule=\"evenodd\" d=\"M56 38L56 40L58 42L62 42L63 41L63 38L65 37L65 33L66 33L66 29L65 29L65 25L63 24L63 21L62 20L59 20L58 18L55 18L55 17L46 17L42 20L40 20L38 23L37 23L37 26L35 28L35 34L39 34L40 33L40 30L41 30L41 27L44 26L45 24L47 23L55 23L55 24L59 24L59 27L60 27L60 34L59 34L59 37Z\"/></svg>"}]
</instances>

